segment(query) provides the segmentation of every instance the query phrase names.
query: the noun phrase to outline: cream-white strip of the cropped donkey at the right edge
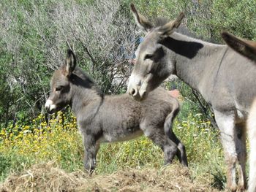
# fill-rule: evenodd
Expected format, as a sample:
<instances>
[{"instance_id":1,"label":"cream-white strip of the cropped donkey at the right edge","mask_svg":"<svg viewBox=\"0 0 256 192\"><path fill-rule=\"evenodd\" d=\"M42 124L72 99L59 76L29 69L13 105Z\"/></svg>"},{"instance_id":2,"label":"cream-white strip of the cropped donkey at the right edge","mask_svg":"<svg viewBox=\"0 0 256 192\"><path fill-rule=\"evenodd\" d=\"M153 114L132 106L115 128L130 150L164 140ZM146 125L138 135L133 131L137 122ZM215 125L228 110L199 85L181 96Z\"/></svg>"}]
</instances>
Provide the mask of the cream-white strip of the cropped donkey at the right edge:
<instances>
[{"instance_id":1,"label":"cream-white strip of the cropped donkey at the right edge","mask_svg":"<svg viewBox=\"0 0 256 192\"><path fill-rule=\"evenodd\" d=\"M247 131L249 137L249 192L256 191L256 99L252 104L247 120Z\"/></svg>"}]
</instances>

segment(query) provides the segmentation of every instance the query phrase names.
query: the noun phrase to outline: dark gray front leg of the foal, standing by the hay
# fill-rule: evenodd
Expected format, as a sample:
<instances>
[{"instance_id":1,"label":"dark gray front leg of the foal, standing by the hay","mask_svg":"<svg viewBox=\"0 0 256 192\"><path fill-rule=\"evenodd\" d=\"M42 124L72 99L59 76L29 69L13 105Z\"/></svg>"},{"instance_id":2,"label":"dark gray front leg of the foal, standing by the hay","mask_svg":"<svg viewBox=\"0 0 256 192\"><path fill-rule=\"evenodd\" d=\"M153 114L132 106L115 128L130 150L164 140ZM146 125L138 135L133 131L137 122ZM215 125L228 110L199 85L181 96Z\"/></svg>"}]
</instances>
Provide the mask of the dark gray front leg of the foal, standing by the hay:
<instances>
[{"instance_id":1,"label":"dark gray front leg of the foal, standing by the hay","mask_svg":"<svg viewBox=\"0 0 256 192\"><path fill-rule=\"evenodd\" d=\"M83 133L84 168L92 173L96 167L96 156L99 150L99 142L91 134Z\"/></svg>"}]
</instances>

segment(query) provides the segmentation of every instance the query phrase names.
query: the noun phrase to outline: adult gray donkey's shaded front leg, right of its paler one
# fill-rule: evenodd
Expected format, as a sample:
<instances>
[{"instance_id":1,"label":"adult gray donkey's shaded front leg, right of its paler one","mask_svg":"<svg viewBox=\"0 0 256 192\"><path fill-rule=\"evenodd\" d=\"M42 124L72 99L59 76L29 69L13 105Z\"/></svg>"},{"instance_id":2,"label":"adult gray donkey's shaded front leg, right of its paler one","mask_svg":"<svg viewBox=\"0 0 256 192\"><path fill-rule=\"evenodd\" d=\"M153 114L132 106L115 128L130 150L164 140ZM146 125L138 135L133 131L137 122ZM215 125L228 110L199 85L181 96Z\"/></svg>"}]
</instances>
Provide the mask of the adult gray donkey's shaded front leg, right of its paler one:
<instances>
[{"instance_id":1,"label":"adult gray donkey's shaded front leg, right of its paler one","mask_svg":"<svg viewBox=\"0 0 256 192\"><path fill-rule=\"evenodd\" d=\"M236 124L236 153L238 154L238 191L246 189L246 126Z\"/></svg>"}]
</instances>

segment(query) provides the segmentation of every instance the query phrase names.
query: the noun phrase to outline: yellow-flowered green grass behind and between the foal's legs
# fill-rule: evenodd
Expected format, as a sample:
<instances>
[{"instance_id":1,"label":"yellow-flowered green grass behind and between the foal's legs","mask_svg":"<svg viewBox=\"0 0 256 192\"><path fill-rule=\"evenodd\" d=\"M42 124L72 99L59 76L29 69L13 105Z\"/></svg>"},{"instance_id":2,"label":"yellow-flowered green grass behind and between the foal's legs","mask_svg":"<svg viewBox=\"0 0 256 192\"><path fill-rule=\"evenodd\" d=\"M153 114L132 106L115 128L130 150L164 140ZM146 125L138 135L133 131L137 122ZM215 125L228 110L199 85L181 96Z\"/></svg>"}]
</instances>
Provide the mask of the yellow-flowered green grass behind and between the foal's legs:
<instances>
[{"instance_id":1,"label":"yellow-flowered green grass behind and between the foal's legs","mask_svg":"<svg viewBox=\"0 0 256 192\"><path fill-rule=\"evenodd\" d=\"M211 175L214 188L224 188L225 171L219 132L200 114L176 122L174 131L187 147L192 180ZM0 131L0 180L10 172L21 172L34 164L54 161L67 172L83 169L83 145L76 119L61 112L47 124L42 115L28 126L10 126ZM174 162L178 164L178 160ZM102 144L96 174L122 169L161 169L163 153L146 137ZM208 177L208 176L207 176Z\"/></svg>"}]
</instances>

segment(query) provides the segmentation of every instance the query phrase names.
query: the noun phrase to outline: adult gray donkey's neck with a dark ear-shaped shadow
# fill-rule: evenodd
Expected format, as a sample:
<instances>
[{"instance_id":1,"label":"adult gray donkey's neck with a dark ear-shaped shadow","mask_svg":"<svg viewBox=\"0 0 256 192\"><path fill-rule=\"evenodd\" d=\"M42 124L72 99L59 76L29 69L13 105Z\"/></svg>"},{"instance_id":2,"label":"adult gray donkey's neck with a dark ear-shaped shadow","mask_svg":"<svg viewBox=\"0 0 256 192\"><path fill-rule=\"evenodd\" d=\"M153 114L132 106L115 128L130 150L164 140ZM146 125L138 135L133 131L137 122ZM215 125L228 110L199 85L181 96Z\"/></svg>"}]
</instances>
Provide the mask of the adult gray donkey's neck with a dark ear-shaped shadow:
<instances>
[{"instance_id":1,"label":"adult gray donkey's neck with a dark ear-shaped shadow","mask_svg":"<svg viewBox=\"0 0 256 192\"><path fill-rule=\"evenodd\" d=\"M225 45L204 42L176 32L167 38L166 45L176 65L176 75L196 90L206 75L216 72L227 50Z\"/></svg>"}]
</instances>

